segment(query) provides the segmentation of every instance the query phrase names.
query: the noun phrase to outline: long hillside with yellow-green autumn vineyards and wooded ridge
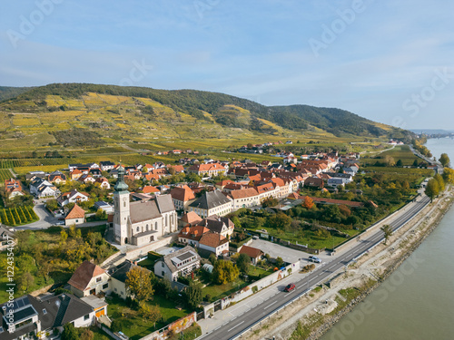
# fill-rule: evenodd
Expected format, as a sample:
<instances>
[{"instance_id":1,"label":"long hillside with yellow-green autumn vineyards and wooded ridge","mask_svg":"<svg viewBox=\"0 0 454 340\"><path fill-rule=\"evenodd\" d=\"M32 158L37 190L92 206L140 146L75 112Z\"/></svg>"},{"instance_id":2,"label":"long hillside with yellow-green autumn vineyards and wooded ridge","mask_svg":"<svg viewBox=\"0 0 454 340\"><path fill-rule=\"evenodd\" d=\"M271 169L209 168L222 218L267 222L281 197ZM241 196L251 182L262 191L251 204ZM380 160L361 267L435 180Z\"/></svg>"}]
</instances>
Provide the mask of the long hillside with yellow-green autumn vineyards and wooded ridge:
<instances>
[{"instance_id":1,"label":"long hillside with yellow-green autumn vineyards and wooded ridge","mask_svg":"<svg viewBox=\"0 0 454 340\"><path fill-rule=\"evenodd\" d=\"M268 107L216 92L89 83L29 88L0 102L0 123L4 145L13 150L30 144L94 147L163 139L348 141L410 136L409 131L340 109ZM83 138L86 129L90 133Z\"/></svg>"}]
</instances>

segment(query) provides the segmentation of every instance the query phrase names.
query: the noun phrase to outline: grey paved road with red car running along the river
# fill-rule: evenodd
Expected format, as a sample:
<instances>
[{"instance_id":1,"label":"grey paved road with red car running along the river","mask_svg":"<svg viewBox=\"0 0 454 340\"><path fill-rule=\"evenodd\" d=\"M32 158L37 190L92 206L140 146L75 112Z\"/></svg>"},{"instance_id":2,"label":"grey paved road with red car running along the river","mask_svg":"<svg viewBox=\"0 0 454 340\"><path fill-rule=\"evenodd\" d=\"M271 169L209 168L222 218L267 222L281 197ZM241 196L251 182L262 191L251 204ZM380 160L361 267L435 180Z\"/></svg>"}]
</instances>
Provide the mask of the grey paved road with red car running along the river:
<instances>
[{"instance_id":1,"label":"grey paved road with red car running along the river","mask_svg":"<svg viewBox=\"0 0 454 340\"><path fill-rule=\"evenodd\" d=\"M392 230L402 227L406 222L416 216L421 209L426 207L426 205L429 204L429 201L430 199L427 196L423 196L416 203L414 203L410 209L402 212L399 217L389 223ZM243 331L252 327L252 325L255 325L261 320L265 321L266 316L271 315L272 312L279 309L281 306L286 305L296 296L301 296L307 293L311 290L311 287L320 284L342 267L346 267L356 257L359 257L370 248L379 244L382 240L383 233L381 230L377 230L377 232L372 234L369 238L360 240L358 244L353 248L350 248L350 250L340 254L339 256L333 257L331 262L324 267L320 267L318 270L315 270L310 275L300 279L299 281L294 281L296 289L293 292L276 292L274 296L268 297L266 300L258 303L247 313L243 312L238 316L232 315L233 318L229 322L226 322L214 329L212 333L202 335L200 338L203 338L204 340L235 339Z\"/></svg>"}]
</instances>

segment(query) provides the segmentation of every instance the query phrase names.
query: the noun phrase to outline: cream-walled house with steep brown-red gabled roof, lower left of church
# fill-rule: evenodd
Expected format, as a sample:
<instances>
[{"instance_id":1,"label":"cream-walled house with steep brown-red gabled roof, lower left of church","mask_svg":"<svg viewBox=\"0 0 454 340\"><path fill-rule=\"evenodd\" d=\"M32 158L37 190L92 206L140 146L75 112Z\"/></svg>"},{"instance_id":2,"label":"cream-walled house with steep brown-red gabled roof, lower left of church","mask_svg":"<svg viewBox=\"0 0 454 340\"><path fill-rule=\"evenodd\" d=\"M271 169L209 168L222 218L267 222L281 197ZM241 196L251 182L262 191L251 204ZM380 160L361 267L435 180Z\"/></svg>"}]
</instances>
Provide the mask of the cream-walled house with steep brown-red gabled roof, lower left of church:
<instances>
[{"instance_id":1,"label":"cream-walled house with steep brown-red gabled roof, lower left of church","mask_svg":"<svg viewBox=\"0 0 454 340\"><path fill-rule=\"evenodd\" d=\"M107 272L102 267L86 260L75 269L68 284L74 296L78 297L98 295L110 290Z\"/></svg>"}]
</instances>

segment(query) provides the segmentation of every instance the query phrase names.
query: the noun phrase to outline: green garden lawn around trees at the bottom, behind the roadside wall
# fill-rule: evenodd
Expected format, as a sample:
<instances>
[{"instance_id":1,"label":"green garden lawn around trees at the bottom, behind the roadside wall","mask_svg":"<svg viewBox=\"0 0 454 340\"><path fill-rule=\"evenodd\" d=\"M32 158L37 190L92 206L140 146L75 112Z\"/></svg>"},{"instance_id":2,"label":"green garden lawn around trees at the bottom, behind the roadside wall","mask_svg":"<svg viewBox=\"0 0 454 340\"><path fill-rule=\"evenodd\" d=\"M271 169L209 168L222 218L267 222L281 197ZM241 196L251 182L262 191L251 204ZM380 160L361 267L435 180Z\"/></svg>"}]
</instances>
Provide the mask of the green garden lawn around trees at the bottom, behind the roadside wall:
<instances>
[{"instance_id":1,"label":"green garden lawn around trees at the bottom, behind the roadside wall","mask_svg":"<svg viewBox=\"0 0 454 340\"><path fill-rule=\"evenodd\" d=\"M156 323L156 327L153 327L149 321L143 320L143 317L139 315L139 312L127 306L122 298L108 297L106 302L109 304L108 316L112 320L119 320L122 332L125 335L128 335L131 340L138 340L143 336L192 313L192 311L188 309L176 309L175 303L163 296L153 296L153 300L149 301L148 304L159 306L161 315L163 316L163 321Z\"/></svg>"}]
</instances>

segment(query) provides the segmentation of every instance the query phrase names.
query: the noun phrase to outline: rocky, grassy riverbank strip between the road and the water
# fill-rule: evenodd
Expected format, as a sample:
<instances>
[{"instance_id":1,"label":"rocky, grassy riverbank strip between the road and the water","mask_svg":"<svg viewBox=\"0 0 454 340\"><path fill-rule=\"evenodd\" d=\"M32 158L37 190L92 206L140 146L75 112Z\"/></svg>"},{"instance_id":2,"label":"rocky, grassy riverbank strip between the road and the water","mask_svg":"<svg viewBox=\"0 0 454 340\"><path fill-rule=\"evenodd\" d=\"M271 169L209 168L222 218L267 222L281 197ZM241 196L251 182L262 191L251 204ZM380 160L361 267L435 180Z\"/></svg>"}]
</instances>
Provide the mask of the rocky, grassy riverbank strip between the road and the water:
<instances>
[{"instance_id":1,"label":"rocky, grassy riverbank strip between the road and the water","mask_svg":"<svg viewBox=\"0 0 454 340\"><path fill-rule=\"evenodd\" d=\"M405 276L410 271L416 270L418 262L402 267L400 265L438 226L439 221L451 207L452 198L453 191L450 188L442 197L434 199L423 209L418 218L410 220L407 225L400 228L389 239L389 246L380 244L373 248L370 253L360 257L356 264L331 279L329 287L322 285L312 290L309 296L299 299L279 316L272 317L262 329L252 332L247 338L254 340L271 339L272 336L276 336L277 339L293 340L320 338L342 316L348 315L354 306L380 287L391 273L398 270L400 276ZM390 284L397 286L399 283L385 283L383 286ZM373 306L361 304L357 309L360 310L355 310L348 316L350 323L346 325L349 326L342 329L336 339L346 339L355 325L362 322L364 316L370 313Z\"/></svg>"}]
</instances>

